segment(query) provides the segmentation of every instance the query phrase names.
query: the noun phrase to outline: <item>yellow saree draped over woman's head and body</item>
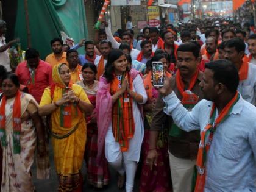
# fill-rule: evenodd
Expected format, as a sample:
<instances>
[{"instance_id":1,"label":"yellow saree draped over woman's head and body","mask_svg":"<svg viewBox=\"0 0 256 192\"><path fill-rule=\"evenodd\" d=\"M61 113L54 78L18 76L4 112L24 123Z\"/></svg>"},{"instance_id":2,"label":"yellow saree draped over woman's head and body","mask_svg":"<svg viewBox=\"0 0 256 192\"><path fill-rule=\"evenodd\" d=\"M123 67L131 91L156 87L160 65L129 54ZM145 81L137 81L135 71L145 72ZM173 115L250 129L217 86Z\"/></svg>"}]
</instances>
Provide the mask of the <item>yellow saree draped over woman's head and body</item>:
<instances>
[{"instance_id":1,"label":"yellow saree draped over woman's head and body","mask_svg":"<svg viewBox=\"0 0 256 192\"><path fill-rule=\"evenodd\" d=\"M52 72L56 84L64 84L60 79L58 66ZM65 84L64 84L65 85ZM82 101L90 103L87 94L79 85L71 86L74 94ZM56 86L51 98L50 88L44 90L40 107L62 98L63 88ZM80 191L82 162L86 143L86 123L84 113L77 113L78 107L71 104L71 127L60 126L60 107L51 114L52 146L54 163L59 176L59 191Z\"/></svg>"}]
</instances>

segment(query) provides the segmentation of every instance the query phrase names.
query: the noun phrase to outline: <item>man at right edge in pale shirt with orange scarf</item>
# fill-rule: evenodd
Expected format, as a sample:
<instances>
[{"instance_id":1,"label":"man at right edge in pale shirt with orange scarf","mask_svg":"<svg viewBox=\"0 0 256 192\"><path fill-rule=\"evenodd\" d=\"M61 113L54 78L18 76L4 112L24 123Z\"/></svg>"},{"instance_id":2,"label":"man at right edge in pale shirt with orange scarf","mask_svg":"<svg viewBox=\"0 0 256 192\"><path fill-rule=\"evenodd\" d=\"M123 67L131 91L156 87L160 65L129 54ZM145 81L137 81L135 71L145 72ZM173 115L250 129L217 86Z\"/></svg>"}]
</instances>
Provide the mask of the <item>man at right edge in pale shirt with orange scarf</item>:
<instances>
[{"instance_id":1,"label":"man at right edge in pale shirt with orange scarf","mask_svg":"<svg viewBox=\"0 0 256 192\"><path fill-rule=\"evenodd\" d=\"M239 71L238 91L243 99L255 104L256 98L256 66L244 59L245 44L240 38L233 38L226 41L225 59L235 65Z\"/></svg>"}]
</instances>

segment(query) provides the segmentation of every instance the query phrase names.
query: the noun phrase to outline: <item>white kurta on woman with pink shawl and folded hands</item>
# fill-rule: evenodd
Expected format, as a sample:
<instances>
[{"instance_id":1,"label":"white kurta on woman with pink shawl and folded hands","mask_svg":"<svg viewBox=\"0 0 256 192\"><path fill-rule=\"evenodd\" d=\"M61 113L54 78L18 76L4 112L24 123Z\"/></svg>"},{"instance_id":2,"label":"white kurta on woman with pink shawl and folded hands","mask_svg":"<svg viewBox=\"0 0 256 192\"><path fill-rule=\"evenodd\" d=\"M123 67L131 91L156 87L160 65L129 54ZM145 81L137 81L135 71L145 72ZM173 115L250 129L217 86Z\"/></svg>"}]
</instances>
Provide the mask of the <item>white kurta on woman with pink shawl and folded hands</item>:
<instances>
[{"instance_id":1,"label":"white kurta on woman with pink shawl and folded hands","mask_svg":"<svg viewBox=\"0 0 256 192\"><path fill-rule=\"evenodd\" d=\"M141 104L145 104L147 101L147 93L144 88L143 80L139 75L133 80L133 90L143 96L143 103ZM122 154L124 158L130 161L138 162L140 159L141 144L144 137L144 123L138 104L134 100L132 103L132 110L135 122L135 133L133 138L129 141L129 149L127 152L122 153L119 143L115 141L112 132L112 123L110 123L110 126L108 127L108 132L105 137L105 157L108 162L115 162L121 158L120 156Z\"/></svg>"}]
</instances>

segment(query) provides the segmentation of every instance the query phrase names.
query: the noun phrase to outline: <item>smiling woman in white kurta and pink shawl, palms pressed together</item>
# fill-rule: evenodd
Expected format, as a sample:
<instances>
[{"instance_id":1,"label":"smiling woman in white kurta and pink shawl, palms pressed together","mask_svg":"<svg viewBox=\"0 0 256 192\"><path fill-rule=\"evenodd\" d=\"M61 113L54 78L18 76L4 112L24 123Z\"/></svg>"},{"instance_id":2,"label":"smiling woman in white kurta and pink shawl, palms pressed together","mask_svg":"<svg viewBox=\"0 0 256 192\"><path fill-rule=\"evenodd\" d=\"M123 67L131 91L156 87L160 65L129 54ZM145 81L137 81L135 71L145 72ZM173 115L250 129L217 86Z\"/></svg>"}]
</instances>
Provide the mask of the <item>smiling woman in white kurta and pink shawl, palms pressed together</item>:
<instances>
[{"instance_id":1,"label":"smiling woman in white kurta and pink shawl, palms pressed together","mask_svg":"<svg viewBox=\"0 0 256 192\"><path fill-rule=\"evenodd\" d=\"M118 187L123 186L126 174L127 192L133 190L137 162L140 159L144 125L139 105L146 100L147 94L140 73L127 67L126 57L121 50L113 49L108 55L105 73L99 82L96 104L98 152L101 152L104 138L105 157L119 173Z\"/></svg>"}]
</instances>

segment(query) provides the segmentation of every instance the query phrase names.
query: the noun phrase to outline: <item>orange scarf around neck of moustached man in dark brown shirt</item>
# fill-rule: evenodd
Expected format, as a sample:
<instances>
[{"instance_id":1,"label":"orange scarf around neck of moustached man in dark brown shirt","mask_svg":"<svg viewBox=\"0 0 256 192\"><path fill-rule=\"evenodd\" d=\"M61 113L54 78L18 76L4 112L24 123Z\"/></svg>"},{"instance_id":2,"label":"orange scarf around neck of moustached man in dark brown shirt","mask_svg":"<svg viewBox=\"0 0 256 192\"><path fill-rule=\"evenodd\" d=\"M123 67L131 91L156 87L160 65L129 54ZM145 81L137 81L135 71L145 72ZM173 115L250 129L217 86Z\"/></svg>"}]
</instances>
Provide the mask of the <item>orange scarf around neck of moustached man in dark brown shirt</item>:
<instances>
[{"instance_id":1,"label":"orange scarf around neck of moustached man in dark brown shirt","mask_svg":"<svg viewBox=\"0 0 256 192\"><path fill-rule=\"evenodd\" d=\"M184 85L184 82L182 81L180 70L178 69L176 72L175 78L176 78L177 89L182 95L181 103L185 108L189 110L191 110L191 108L193 108L194 105L196 105L199 100L199 97L191 91L194 85L196 84L196 79L198 77L198 74L199 74L199 69L197 69L196 73L194 73L193 77L191 77L188 89L185 90L185 85ZM171 129L169 130L169 135L171 137L182 137L183 130L181 130L176 124L172 123Z\"/></svg>"}]
</instances>

